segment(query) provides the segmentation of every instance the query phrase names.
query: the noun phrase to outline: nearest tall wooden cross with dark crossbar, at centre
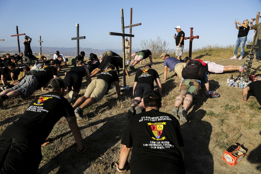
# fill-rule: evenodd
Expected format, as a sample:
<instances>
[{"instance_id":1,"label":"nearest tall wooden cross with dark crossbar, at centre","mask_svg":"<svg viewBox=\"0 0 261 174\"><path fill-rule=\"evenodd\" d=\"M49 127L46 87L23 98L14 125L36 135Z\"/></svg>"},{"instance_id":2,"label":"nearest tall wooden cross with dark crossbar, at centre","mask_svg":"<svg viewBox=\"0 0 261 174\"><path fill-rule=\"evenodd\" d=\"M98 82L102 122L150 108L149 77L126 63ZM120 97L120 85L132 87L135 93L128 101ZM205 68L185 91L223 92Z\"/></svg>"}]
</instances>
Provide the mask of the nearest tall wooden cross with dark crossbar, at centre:
<instances>
[{"instance_id":1,"label":"nearest tall wooden cross with dark crossbar, at centre","mask_svg":"<svg viewBox=\"0 0 261 174\"><path fill-rule=\"evenodd\" d=\"M125 36L134 37L134 35L132 35L132 34L125 34L125 33L124 33L124 16L123 16L123 9L121 9L121 29L122 29L122 33L109 32L109 34L110 34L110 35L115 35L115 36L122 36L123 87L126 87L126 74L125 74L126 65L125 65L125 41L124 41L124 38L125 38Z\"/></svg>"}]
</instances>

